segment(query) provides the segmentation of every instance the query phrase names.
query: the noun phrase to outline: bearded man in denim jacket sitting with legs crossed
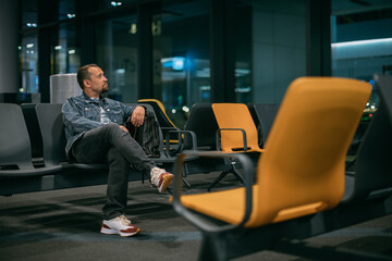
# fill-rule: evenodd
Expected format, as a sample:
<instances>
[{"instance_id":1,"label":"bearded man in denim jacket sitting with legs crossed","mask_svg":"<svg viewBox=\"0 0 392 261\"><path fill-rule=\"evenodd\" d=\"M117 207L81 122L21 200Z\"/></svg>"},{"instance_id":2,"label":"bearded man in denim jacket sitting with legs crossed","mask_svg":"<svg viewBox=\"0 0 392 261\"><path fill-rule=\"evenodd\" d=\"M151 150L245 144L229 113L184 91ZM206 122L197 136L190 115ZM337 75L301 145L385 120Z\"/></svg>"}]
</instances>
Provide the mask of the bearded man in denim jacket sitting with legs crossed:
<instances>
[{"instance_id":1,"label":"bearded man in denim jacket sitting with legs crossed","mask_svg":"<svg viewBox=\"0 0 392 261\"><path fill-rule=\"evenodd\" d=\"M133 108L102 98L101 94L109 90L108 79L96 64L82 66L77 71L77 83L83 94L69 98L62 107L66 154L79 163L109 164L107 202L102 208L100 232L134 236L140 228L131 225L124 215L131 166L149 173L159 192L171 184L173 175L157 167L122 125L131 116L131 122L140 126L144 122L144 107Z\"/></svg>"}]
</instances>

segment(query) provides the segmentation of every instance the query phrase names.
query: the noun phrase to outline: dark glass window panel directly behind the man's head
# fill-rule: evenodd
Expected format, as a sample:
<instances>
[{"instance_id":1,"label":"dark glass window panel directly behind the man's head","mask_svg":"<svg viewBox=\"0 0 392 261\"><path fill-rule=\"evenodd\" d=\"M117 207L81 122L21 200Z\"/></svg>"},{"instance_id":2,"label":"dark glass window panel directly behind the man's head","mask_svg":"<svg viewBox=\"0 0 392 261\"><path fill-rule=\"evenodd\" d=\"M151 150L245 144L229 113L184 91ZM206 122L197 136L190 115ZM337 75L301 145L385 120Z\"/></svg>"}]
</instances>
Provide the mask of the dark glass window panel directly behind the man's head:
<instances>
[{"instance_id":1,"label":"dark glass window panel directly behind the man's head","mask_svg":"<svg viewBox=\"0 0 392 261\"><path fill-rule=\"evenodd\" d=\"M109 79L109 97L137 101L136 15L97 23L97 64Z\"/></svg>"}]
</instances>

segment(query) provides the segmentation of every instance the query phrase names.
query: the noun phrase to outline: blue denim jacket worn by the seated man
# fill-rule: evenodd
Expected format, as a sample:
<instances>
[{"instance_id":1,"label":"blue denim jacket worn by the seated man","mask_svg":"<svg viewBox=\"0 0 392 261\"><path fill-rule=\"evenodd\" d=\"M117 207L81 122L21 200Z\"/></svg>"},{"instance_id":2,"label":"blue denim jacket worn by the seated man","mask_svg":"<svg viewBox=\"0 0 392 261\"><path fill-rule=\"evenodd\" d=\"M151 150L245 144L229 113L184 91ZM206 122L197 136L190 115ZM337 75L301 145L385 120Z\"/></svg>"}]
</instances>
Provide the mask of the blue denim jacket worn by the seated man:
<instances>
[{"instance_id":1,"label":"blue denim jacket worn by the seated man","mask_svg":"<svg viewBox=\"0 0 392 261\"><path fill-rule=\"evenodd\" d=\"M99 101L90 99L85 92L69 98L62 107L65 126L65 152L70 156L72 145L89 129L105 125L100 122L100 107L112 123L124 124L132 115L134 108L120 101L99 97Z\"/></svg>"}]
</instances>

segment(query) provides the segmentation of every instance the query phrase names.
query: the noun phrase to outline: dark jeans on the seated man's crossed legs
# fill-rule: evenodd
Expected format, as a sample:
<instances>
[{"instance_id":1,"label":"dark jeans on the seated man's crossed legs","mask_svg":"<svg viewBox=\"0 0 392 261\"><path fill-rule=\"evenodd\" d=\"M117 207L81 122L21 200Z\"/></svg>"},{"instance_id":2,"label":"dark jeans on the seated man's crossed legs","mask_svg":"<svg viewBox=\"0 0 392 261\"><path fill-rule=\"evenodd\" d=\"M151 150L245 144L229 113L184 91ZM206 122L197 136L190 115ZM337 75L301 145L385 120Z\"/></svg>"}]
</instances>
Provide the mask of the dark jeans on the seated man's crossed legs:
<instances>
[{"instance_id":1,"label":"dark jeans on the seated man's crossed legs","mask_svg":"<svg viewBox=\"0 0 392 261\"><path fill-rule=\"evenodd\" d=\"M131 165L148 174L155 166L137 141L113 123L86 132L73 145L72 153L79 163L109 164L108 198L102 208L105 220L124 213Z\"/></svg>"}]
</instances>

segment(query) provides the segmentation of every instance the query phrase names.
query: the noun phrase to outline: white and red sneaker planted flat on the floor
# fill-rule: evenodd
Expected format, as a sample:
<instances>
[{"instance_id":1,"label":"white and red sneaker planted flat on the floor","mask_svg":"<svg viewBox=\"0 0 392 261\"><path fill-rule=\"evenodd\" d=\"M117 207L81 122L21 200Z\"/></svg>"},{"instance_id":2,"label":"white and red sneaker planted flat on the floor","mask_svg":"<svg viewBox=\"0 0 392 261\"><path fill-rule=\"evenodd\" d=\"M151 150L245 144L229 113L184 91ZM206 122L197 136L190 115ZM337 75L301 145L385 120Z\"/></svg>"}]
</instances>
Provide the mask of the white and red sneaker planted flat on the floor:
<instances>
[{"instance_id":1,"label":"white and red sneaker planted flat on the floor","mask_svg":"<svg viewBox=\"0 0 392 261\"><path fill-rule=\"evenodd\" d=\"M122 237L130 237L140 233L140 228L131 225L131 221L125 215L117 216L112 220L103 220L100 233L107 235L118 234Z\"/></svg>"}]
</instances>

